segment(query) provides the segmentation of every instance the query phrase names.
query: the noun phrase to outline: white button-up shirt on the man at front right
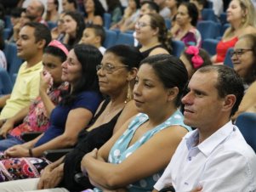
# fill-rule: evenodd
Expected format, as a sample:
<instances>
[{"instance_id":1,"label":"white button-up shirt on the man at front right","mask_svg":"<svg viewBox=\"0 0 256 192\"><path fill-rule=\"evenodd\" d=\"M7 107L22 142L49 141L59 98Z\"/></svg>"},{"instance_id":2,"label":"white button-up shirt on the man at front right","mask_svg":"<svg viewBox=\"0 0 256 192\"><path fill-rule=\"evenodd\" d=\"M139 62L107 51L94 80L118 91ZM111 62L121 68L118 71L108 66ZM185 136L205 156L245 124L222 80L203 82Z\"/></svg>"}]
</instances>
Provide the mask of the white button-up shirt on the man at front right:
<instances>
[{"instance_id":1,"label":"white button-up shirt on the man at front right","mask_svg":"<svg viewBox=\"0 0 256 192\"><path fill-rule=\"evenodd\" d=\"M176 192L187 192L201 185L206 192L256 191L256 155L231 121L197 142L197 130L185 135L155 189L173 185Z\"/></svg>"}]
</instances>

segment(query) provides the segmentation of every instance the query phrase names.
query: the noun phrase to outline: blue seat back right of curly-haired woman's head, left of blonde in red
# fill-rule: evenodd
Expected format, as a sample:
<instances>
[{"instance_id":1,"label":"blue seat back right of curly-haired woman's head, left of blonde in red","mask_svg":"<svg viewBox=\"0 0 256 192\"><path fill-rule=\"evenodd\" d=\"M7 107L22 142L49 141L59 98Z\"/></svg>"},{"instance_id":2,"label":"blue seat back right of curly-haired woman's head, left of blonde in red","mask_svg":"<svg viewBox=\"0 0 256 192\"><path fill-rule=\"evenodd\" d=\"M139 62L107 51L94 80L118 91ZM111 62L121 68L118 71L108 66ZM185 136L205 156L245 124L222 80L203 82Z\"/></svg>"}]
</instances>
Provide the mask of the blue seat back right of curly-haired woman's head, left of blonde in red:
<instances>
[{"instance_id":1,"label":"blue seat back right of curly-haired woman's head, left of blonde in red","mask_svg":"<svg viewBox=\"0 0 256 192\"><path fill-rule=\"evenodd\" d=\"M197 22L196 29L200 31L202 40L219 36L219 26L213 20L201 20Z\"/></svg>"}]
</instances>

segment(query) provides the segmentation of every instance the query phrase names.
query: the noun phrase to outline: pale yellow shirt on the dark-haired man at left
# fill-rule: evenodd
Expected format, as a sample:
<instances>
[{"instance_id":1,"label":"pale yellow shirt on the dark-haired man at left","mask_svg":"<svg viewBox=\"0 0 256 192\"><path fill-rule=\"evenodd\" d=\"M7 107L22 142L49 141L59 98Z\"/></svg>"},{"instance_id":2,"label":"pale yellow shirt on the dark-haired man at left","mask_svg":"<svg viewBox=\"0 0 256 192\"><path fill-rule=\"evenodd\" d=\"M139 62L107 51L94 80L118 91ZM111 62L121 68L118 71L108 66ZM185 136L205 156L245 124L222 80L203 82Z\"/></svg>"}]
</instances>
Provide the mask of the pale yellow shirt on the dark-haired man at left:
<instances>
[{"instance_id":1,"label":"pale yellow shirt on the dark-haired man at left","mask_svg":"<svg viewBox=\"0 0 256 192\"><path fill-rule=\"evenodd\" d=\"M21 109L31 104L31 100L38 96L40 71L43 70L42 61L29 68L26 68L26 66L26 62L20 65L11 97L6 101L0 119L14 116Z\"/></svg>"}]
</instances>

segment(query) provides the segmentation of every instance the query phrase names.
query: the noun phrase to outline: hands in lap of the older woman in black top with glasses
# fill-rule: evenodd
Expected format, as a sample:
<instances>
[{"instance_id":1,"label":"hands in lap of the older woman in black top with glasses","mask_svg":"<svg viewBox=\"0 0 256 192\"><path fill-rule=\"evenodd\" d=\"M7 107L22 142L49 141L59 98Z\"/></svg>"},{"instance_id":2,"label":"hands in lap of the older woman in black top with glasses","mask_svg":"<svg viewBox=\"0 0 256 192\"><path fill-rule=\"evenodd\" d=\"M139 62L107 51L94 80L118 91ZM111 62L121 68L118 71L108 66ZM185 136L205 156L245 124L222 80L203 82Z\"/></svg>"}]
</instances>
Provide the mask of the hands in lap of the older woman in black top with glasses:
<instances>
[{"instance_id":1,"label":"hands in lap of the older woman in black top with glasses","mask_svg":"<svg viewBox=\"0 0 256 192\"><path fill-rule=\"evenodd\" d=\"M61 163L60 166L55 167L54 169L52 169L50 166L51 165L48 165L48 167L44 168L37 184L37 189L51 189L60 184L64 174L64 164Z\"/></svg>"}]
</instances>

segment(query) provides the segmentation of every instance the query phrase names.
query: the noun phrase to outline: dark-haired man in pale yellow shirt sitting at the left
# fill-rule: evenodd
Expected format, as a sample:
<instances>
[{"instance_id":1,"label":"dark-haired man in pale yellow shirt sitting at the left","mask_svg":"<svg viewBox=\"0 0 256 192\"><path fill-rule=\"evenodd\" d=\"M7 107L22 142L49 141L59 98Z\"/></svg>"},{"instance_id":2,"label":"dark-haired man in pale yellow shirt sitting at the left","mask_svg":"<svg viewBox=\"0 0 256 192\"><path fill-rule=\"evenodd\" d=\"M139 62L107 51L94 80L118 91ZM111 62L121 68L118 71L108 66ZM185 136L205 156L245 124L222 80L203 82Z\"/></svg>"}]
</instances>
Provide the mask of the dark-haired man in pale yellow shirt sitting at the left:
<instances>
[{"instance_id":1,"label":"dark-haired man in pale yellow shirt sitting at the left","mask_svg":"<svg viewBox=\"0 0 256 192\"><path fill-rule=\"evenodd\" d=\"M40 71L43 69L43 49L51 41L48 27L40 23L24 25L17 40L17 55L25 62L20 65L13 91L0 98L0 126L11 116L31 103L39 91Z\"/></svg>"}]
</instances>

